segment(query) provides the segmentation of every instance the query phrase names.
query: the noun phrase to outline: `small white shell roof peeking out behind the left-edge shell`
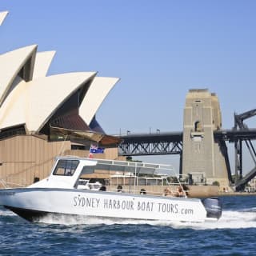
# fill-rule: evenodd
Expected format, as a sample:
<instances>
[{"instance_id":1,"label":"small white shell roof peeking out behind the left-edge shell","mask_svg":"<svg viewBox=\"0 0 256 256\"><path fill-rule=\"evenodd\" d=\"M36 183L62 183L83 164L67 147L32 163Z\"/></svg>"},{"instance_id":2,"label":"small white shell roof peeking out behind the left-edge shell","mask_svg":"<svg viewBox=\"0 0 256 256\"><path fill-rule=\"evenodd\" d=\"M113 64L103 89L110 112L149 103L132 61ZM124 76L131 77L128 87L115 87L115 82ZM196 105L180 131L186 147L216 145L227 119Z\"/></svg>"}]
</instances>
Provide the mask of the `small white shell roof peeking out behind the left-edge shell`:
<instances>
[{"instance_id":1,"label":"small white shell roof peeking out behind the left-edge shell","mask_svg":"<svg viewBox=\"0 0 256 256\"><path fill-rule=\"evenodd\" d=\"M46 77L56 51L44 51L37 53L34 62L33 79Z\"/></svg>"}]
</instances>

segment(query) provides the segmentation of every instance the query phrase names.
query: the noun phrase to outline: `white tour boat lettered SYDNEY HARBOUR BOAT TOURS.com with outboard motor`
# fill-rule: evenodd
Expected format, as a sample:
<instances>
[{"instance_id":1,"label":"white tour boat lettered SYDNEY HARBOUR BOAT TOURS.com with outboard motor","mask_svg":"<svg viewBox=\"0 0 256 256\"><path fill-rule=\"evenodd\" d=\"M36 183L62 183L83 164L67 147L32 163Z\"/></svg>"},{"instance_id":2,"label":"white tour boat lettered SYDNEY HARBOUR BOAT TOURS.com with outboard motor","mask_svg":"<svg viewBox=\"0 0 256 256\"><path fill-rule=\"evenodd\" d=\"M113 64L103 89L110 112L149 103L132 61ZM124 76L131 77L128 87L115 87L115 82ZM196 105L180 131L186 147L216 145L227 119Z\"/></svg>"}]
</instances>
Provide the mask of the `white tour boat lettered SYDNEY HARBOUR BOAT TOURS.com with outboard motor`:
<instances>
[{"instance_id":1,"label":"white tour boat lettered SYDNEY HARBOUR BOAT TOURS.com with outboard motor","mask_svg":"<svg viewBox=\"0 0 256 256\"><path fill-rule=\"evenodd\" d=\"M124 174L153 174L166 170L163 165L90 158L58 157L48 178L25 188L0 190L0 205L22 218L37 222L47 214L82 215L99 218L128 218L179 222L204 222L220 218L218 198L175 197L106 190L99 182L90 183L82 175L97 170ZM87 175L88 176L88 175ZM134 179L135 181L135 179ZM132 185L136 191L136 182Z\"/></svg>"}]
</instances>

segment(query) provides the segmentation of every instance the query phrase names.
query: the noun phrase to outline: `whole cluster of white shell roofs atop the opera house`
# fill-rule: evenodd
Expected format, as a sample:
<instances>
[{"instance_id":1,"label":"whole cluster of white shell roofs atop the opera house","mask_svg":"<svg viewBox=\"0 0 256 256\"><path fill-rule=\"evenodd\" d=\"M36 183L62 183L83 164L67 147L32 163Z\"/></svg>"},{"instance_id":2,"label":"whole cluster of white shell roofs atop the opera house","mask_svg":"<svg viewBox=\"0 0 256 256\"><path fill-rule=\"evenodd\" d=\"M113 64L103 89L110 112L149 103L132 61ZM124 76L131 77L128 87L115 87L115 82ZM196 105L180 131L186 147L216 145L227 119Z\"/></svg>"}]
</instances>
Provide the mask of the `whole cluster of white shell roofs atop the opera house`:
<instances>
[{"instance_id":1,"label":"whole cluster of white shell roofs atop the opera house","mask_svg":"<svg viewBox=\"0 0 256 256\"><path fill-rule=\"evenodd\" d=\"M0 12L0 26L7 14ZM59 126L51 129L70 133L72 127L73 133L102 137L103 131L97 134L90 124L119 78L95 78L96 72L47 76L55 51L37 53L37 48L32 45L0 54L0 133L23 127L26 134L47 133L48 125L57 120Z\"/></svg>"}]
</instances>

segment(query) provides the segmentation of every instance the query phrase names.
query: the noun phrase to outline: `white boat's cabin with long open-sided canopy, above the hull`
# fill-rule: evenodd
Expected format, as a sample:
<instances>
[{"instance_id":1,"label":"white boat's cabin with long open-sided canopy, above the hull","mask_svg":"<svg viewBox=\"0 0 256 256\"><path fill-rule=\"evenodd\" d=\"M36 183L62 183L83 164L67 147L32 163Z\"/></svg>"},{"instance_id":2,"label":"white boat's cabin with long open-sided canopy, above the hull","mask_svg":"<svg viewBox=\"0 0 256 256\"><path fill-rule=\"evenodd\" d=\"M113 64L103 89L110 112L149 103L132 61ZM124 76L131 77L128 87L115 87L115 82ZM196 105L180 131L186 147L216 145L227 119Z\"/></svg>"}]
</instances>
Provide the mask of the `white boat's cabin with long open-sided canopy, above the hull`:
<instances>
[{"instance_id":1,"label":"white boat's cabin with long open-sided canopy, above the hull","mask_svg":"<svg viewBox=\"0 0 256 256\"><path fill-rule=\"evenodd\" d=\"M90 177L104 174L106 184L90 182ZM78 190L106 190L106 186L126 186L126 192L146 190L146 186L168 186L168 177L176 176L173 166L144 162L58 157L48 178L30 187L52 187ZM129 188L129 190L128 190Z\"/></svg>"}]
</instances>

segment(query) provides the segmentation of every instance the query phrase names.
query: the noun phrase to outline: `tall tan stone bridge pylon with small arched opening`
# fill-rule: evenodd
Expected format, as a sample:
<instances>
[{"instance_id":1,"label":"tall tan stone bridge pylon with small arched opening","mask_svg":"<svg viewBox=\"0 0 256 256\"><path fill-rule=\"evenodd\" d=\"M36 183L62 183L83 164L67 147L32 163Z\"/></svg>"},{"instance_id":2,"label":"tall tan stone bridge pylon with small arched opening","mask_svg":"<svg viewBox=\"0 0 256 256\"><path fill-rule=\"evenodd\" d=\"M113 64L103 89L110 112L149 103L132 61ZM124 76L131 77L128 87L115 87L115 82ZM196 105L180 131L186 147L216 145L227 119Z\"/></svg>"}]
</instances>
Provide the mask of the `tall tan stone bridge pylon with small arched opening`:
<instances>
[{"instance_id":1,"label":"tall tan stone bridge pylon with small arched opening","mask_svg":"<svg viewBox=\"0 0 256 256\"><path fill-rule=\"evenodd\" d=\"M230 185L223 144L214 141L214 131L221 129L217 95L206 89L190 90L184 109L182 174L191 174L194 182Z\"/></svg>"}]
</instances>

